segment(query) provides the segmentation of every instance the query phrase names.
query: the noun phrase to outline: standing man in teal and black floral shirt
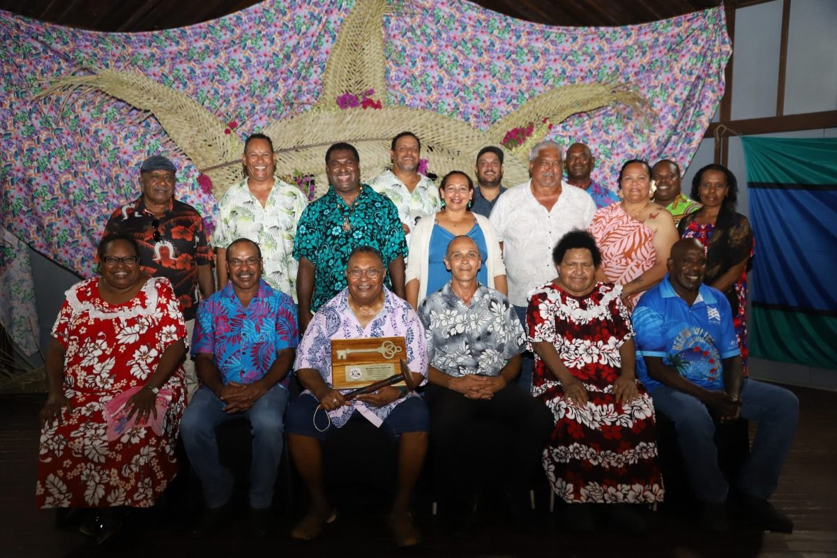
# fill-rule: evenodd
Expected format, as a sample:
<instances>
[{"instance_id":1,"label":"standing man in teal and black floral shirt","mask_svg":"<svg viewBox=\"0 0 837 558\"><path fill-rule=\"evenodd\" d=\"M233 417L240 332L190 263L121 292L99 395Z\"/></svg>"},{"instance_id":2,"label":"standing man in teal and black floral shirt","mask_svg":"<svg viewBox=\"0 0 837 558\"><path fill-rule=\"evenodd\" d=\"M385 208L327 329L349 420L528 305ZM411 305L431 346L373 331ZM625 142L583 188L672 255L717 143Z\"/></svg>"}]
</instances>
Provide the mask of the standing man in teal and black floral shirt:
<instances>
[{"instance_id":1,"label":"standing man in teal and black floral shirt","mask_svg":"<svg viewBox=\"0 0 837 558\"><path fill-rule=\"evenodd\" d=\"M360 156L350 144L328 148L326 175L328 192L306 207L296 228L300 331L306 330L316 310L346 288L346 264L357 246L372 246L381 253L388 269L387 287L404 298L407 242L398 209L361 184Z\"/></svg>"}]
</instances>

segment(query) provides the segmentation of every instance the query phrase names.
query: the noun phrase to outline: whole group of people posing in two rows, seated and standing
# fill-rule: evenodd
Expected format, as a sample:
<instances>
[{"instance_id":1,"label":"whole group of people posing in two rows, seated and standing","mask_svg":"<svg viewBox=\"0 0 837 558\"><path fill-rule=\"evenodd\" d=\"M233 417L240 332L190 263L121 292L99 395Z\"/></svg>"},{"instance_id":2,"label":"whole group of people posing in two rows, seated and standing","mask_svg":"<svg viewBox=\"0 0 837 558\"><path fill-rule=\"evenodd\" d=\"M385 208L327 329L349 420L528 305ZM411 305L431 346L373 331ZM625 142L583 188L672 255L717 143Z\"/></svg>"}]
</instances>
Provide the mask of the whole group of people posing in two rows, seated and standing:
<instances>
[{"instance_id":1,"label":"whole group of people posing in two rows, seated and standing","mask_svg":"<svg viewBox=\"0 0 837 558\"><path fill-rule=\"evenodd\" d=\"M451 171L436 187L418 172L420 150L398 134L392 170L363 183L357 149L336 143L328 191L309 203L275 176L270 138L249 136L246 177L219 201L212 238L174 198L172 161L146 159L141 196L105 226L98 277L67 291L54 325L39 505L90 508L81 530L109 539L177 473L179 434L206 504L196 532L214 529L234 487L215 428L245 417L251 525L270 530L286 436L310 496L291 536L311 539L336 520L321 443L366 420L398 441L388 518L400 546L421 539L409 503L430 443L454 530L473 524L486 479L531 528L539 465L573 504L573 529L592 529L593 504L606 503L641 530L636 504L664 497L656 411L675 422L701 525L716 531L727 529L728 486L715 424L757 421L736 494L759 525L792 529L768 497L798 402L746 378L753 238L732 173L698 171L694 202L674 161L631 160L617 194L591 181L588 146L565 160L543 141L528 182L504 187L504 153L486 146L476 184ZM373 337L404 338L418 392L333 387L331 340ZM304 391L289 401L291 376Z\"/></svg>"}]
</instances>

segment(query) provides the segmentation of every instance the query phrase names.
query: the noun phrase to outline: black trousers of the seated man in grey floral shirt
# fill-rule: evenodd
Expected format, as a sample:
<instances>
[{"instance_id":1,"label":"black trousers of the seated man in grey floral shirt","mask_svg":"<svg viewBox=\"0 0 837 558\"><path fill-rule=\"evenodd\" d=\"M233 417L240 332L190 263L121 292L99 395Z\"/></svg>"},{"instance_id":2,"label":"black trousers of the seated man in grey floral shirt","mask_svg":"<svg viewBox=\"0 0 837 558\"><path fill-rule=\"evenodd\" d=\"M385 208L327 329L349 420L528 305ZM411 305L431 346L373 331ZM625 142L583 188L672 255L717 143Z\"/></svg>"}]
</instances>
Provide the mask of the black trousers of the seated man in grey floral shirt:
<instances>
[{"instance_id":1,"label":"black trousers of the seated man in grey floral shirt","mask_svg":"<svg viewBox=\"0 0 837 558\"><path fill-rule=\"evenodd\" d=\"M465 504L486 484L528 491L554 426L546 405L516 383L485 400L429 384L424 401L440 500Z\"/></svg>"}]
</instances>

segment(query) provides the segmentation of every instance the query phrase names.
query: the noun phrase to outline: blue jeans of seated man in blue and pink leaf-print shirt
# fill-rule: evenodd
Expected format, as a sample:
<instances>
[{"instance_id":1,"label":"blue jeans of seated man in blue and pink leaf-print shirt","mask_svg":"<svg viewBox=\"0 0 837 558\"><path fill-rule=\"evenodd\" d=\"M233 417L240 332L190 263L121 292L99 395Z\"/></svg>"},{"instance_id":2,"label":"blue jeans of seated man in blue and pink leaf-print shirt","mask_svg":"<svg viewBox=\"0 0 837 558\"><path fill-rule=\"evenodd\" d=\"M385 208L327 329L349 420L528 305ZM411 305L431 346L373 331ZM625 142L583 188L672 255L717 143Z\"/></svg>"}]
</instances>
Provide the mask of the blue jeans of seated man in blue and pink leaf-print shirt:
<instances>
[{"instance_id":1,"label":"blue jeans of seated man in blue and pink leaf-print shirt","mask_svg":"<svg viewBox=\"0 0 837 558\"><path fill-rule=\"evenodd\" d=\"M208 387L201 387L186 407L180 421L183 446L192 467L203 485L203 499L210 509L229 502L234 479L218 460L215 427L222 422L244 417L253 432L253 462L250 466L250 506L270 507L276 469L282 458L283 417L288 404L288 390L281 384L270 388L247 411L229 414L226 406Z\"/></svg>"}]
</instances>

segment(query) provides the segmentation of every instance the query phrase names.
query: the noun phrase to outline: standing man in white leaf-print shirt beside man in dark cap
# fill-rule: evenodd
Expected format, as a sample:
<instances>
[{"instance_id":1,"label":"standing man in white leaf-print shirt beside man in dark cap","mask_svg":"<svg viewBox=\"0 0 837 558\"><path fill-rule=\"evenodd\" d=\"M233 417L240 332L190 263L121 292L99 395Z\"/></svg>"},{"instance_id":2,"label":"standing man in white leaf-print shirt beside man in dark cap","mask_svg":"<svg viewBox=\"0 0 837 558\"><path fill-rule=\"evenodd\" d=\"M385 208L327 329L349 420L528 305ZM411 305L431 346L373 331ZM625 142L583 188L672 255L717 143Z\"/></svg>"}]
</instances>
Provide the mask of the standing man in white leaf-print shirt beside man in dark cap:
<instances>
[{"instance_id":1,"label":"standing man in white leaf-print shirt beside man in dark cap","mask_svg":"<svg viewBox=\"0 0 837 558\"><path fill-rule=\"evenodd\" d=\"M218 228L213 234L213 245L229 246L236 238L249 238L258 243L264 258L263 279L296 302L294 237L296 223L308 199L298 187L274 176L276 155L270 137L250 135L244 142L241 161L247 177L230 187L218 202ZM220 290L229 279L225 265L227 251L216 248L215 253Z\"/></svg>"}]
</instances>

